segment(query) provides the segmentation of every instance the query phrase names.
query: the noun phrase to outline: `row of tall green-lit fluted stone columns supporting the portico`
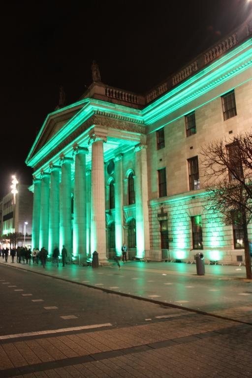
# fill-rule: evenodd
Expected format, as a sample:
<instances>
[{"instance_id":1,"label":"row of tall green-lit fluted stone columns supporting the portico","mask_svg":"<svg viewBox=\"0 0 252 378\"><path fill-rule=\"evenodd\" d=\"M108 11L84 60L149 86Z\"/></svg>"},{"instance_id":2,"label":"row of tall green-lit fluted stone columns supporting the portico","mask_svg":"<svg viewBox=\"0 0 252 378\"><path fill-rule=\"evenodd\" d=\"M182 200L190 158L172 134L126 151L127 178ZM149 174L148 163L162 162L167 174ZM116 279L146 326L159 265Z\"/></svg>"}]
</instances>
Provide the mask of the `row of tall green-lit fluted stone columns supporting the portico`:
<instances>
[{"instance_id":1,"label":"row of tall green-lit fluted stone columns supporting the portico","mask_svg":"<svg viewBox=\"0 0 252 378\"><path fill-rule=\"evenodd\" d=\"M61 166L51 166L51 172L43 172L41 179L34 179L32 249L45 247L52 253L63 245L81 262L87 252L99 253L100 262L106 258L105 178L103 143L104 138L91 138L92 170L91 200L86 188L86 154L88 149L76 147L74 173L74 219L71 220L71 164L72 158L64 157ZM60 182L61 172L61 182ZM121 252L123 243L123 188L122 155L115 158L115 227L116 251ZM149 251L149 217L147 194L146 149L136 148L136 241L137 257ZM90 225L87 225L90 219ZM72 235L73 232L73 235ZM88 246L88 248L87 248Z\"/></svg>"}]
</instances>

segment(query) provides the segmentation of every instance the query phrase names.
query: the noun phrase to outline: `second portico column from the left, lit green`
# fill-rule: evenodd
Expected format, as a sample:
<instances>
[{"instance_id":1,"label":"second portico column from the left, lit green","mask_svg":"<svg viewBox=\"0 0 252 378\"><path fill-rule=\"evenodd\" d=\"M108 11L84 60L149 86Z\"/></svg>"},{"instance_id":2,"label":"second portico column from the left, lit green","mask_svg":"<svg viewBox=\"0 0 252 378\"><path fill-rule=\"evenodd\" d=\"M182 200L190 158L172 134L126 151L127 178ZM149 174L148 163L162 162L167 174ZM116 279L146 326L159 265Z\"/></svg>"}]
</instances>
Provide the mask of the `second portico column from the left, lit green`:
<instances>
[{"instance_id":1,"label":"second portico column from the left, lit green","mask_svg":"<svg viewBox=\"0 0 252 378\"><path fill-rule=\"evenodd\" d=\"M50 173L44 172L41 179L39 249L48 251Z\"/></svg>"}]
</instances>

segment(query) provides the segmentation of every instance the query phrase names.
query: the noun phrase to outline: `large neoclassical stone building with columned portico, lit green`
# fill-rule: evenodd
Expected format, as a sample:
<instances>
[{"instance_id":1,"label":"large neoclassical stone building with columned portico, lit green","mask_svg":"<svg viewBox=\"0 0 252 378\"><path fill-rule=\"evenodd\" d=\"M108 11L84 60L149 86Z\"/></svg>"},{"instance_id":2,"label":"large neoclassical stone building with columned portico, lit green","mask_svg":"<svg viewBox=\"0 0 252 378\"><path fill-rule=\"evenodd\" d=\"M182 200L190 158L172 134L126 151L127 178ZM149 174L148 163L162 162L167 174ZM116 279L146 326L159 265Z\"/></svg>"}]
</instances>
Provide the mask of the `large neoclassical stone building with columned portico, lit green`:
<instances>
[{"instance_id":1,"label":"large neoclassical stone building with columned portico, lit green","mask_svg":"<svg viewBox=\"0 0 252 378\"><path fill-rule=\"evenodd\" d=\"M94 251L106 263L123 243L129 259L191 261L199 249L209 261L241 259L241 235L205 210L200 159L194 184L189 161L211 139L251 128L251 31L242 25L145 96L94 82L50 113L26 160L32 248L64 245L80 263ZM236 109L224 121L221 96L231 91Z\"/></svg>"}]
</instances>

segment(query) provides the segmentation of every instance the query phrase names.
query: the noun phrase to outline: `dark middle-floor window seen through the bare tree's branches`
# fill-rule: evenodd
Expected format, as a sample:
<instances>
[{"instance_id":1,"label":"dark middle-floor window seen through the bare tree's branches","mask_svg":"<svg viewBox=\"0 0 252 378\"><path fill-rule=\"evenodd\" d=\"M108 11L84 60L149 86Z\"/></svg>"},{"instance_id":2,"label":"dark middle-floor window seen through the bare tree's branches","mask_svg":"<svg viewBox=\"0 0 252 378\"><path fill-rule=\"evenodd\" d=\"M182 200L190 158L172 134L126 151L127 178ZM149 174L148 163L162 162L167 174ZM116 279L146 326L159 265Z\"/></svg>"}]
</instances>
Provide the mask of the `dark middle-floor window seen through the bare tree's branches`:
<instances>
[{"instance_id":1,"label":"dark middle-floor window seen through the bare tree's branches","mask_svg":"<svg viewBox=\"0 0 252 378\"><path fill-rule=\"evenodd\" d=\"M240 149L237 143L230 143L226 146L228 155L229 180L243 179L243 167Z\"/></svg>"}]
</instances>

